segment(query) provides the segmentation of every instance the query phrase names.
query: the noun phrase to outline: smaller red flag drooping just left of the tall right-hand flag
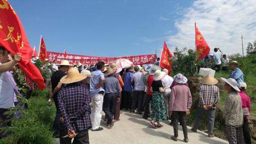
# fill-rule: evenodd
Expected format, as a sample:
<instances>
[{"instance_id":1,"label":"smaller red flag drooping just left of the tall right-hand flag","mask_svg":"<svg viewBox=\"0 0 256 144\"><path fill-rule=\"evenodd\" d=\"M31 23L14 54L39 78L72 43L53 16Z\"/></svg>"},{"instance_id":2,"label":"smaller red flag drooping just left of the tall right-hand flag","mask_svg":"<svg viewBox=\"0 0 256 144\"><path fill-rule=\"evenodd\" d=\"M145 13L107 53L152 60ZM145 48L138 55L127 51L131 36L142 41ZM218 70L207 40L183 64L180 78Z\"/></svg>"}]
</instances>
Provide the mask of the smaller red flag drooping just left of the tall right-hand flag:
<instances>
[{"instance_id":1,"label":"smaller red flag drooping just left of the tall right-hand flag","mask_svg":"<svg viewBox=\"0 0 256 144\"><path fill-rule=\"evenodd\" d=\"M168 49L166 43L164 42L164 50L162 51L162 54L161 54L159 66L167 69L168 74L172 73L171 57L173 57L173 55L171 54L170 50Z\"/></svg>"}]
</instances>

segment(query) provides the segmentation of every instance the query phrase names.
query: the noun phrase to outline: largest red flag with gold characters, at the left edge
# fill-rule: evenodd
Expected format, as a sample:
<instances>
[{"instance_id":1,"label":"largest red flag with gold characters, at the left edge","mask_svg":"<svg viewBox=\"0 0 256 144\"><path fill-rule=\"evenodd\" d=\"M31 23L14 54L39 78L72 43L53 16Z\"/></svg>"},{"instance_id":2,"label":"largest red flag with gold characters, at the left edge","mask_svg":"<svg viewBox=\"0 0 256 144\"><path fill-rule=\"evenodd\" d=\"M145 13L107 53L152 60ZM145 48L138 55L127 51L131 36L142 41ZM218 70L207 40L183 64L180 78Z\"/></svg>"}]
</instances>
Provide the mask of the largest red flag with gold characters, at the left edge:
<instances>
[{"instance_id":1,"label":"largest red flag with gold characters, at the left edge","mask_svg":"<svg viewBox=\"0 0 256 144\"><path fill-rule=\"evenodd\" d=\"M7 0L0 0L0 45L12 54L22 54L19 68L37 82L38 89L46 87L40 71L30 62L33 50L18 15Z\"/></svg>"}]
</instances>

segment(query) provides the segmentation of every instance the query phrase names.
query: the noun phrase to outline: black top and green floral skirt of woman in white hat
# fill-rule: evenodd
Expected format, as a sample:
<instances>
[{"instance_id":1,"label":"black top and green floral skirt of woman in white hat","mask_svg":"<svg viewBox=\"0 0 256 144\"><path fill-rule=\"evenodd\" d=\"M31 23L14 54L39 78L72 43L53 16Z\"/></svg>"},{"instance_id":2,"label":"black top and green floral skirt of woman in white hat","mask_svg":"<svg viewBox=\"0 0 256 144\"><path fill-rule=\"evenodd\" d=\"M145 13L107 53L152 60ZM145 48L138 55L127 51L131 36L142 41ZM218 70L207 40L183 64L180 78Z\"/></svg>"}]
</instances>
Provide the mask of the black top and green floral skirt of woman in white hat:
<instances>
[{"instance_id":1,"label":"black top and green floral skirt of woman in white hat","mask_svg":"<svg viewBox=\"0 0 256 144\"><path fill-rule=\"evenodd\" d=\"M162 81L153 81L151 86L153 88L151 119L155 121L167 120L164 96L163 93L159 91L159 88L163 88Z\"/></svg>"}]
</instances>

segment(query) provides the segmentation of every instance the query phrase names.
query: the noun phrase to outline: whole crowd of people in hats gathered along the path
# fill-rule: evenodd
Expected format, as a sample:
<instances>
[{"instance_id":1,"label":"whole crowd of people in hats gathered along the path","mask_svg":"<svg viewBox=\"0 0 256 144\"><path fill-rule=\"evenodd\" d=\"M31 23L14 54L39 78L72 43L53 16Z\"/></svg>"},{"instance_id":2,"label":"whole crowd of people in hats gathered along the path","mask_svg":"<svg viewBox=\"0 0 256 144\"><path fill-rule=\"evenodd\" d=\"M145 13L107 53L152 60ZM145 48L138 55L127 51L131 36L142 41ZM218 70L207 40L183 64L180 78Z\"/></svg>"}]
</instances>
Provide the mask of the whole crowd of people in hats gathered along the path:
<instances>
[{"instance_id":1,"label":"whole crowd of people in hats gathered along the path","mask_svg":"<svg viewBox=\"0 0 256 144\"><path fill-rule=\"evenodd\" d=\"M217 49L218 51L218 49ZM216 54L217 57L221 54ZM14 107L15 84L8 73L21 59L21 54L12 55L0 46L0 114ZM46 61L48 62L48 60ZM226 61L227 62L227 61ZM250 98L245 90L243 72L238 62L227 62L232 73L225 82L227 97L223 118L230 144L250 144L248 117L250 116ZM226 65L226 66L227 66ZM216 64L219 69L219 65ZM192 94L188 79L181 73L172 78L168 70L157 65L146 68L131 65L122 69L116 63L98 62L94 66L82 66L82 63L70 64L63 60L57 64L54 60L47 69L53 71L49 81L49 104L54 101L56 116L54 121L55 135L61 144L89 144L88 131L97 132L101 127L101 111L106 125L111 128L120 120L120 110L151 118L148 123L153 128L161 128L161 121L171 120L174 128L171 138L178 140L178 125L183 128L184 142L189 142L186 116L192 107ZM207 75L201 79L199 103L196 111L193 132L197 132L204 112L208 118L208 137L214 137L215 110L219 102L218 80ZM10 123L1 123L10 126ZM2 136L2 135L1 135Z\"/></svg>"}]
</instances>

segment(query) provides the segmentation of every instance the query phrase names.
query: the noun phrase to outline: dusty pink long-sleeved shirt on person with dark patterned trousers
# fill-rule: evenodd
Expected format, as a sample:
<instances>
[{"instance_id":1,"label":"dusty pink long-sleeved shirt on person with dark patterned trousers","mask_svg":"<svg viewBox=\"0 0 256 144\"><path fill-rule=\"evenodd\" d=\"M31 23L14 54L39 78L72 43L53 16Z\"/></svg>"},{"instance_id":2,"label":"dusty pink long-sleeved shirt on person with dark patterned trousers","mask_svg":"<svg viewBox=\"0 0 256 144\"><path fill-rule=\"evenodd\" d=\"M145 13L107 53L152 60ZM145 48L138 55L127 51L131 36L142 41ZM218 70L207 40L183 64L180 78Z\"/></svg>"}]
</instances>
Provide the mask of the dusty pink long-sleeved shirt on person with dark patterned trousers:
<instances>
[{"instance_id":1,"label":"dusty pink long-sleeved shirt on person with dark patterned trousers","mask_svg":"<svg viewBox=\"0 0 256 144\"><path fill-rule=\"evenodd\" d=\"M192 106L192 96L189 87L184 84L177 83L172 88L169 101L170 111L186 111Z\"/></svg>"}]
</instances>

